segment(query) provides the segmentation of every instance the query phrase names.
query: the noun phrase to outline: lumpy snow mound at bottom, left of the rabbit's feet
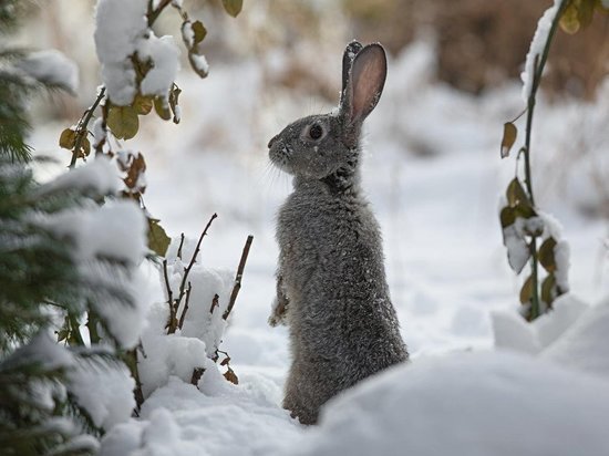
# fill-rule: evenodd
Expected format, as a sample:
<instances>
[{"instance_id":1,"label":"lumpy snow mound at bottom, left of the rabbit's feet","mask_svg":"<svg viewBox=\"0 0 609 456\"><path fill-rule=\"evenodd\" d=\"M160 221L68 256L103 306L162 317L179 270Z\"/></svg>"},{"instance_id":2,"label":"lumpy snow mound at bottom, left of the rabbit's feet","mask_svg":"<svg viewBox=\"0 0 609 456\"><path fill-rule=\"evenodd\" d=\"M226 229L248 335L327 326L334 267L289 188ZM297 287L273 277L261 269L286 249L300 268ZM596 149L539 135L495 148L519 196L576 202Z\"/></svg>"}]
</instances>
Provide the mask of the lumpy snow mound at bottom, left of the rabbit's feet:
<instances>
[{"instance_id":1,"label":"lumpy snow mound at bottom, left of the rabbit's feet","mask_svg":"<svg viewBox=\"0 0 609 456\"><path fill-rule=\"evenodd\" d=\"M213 365L205 376L205 394L172 377L144 403L140 421L105 435L101 455L268 455L299 437L288 412L231 385Z\"/></svg>"}]
</instances>

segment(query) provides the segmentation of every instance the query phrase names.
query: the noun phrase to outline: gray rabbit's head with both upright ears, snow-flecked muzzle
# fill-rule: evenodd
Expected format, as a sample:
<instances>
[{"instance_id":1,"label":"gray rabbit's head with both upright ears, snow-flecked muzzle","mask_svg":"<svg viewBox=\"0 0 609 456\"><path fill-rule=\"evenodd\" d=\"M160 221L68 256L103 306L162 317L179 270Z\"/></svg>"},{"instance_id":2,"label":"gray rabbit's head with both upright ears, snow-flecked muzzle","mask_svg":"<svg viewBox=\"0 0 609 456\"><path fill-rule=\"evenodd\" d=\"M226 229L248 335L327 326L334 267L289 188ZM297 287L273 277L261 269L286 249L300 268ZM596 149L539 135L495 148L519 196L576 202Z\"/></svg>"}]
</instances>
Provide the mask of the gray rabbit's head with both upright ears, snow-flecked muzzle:
<instances>
[{"instance_id":1,"label":"gray rabbit's head with both upright ears, snow-flecked muzzle","mask_svg":"<svg viewBox=\"0 0 609 456\"><path fill-rule=\"evenodd\" d=\"M283 128L269 142L271 162L297 177L349 179L358 165L363 121L381 97L385 75L386 58L380 44L351 42L342 59L339 108Z\"/></svg>"}]
</instances>

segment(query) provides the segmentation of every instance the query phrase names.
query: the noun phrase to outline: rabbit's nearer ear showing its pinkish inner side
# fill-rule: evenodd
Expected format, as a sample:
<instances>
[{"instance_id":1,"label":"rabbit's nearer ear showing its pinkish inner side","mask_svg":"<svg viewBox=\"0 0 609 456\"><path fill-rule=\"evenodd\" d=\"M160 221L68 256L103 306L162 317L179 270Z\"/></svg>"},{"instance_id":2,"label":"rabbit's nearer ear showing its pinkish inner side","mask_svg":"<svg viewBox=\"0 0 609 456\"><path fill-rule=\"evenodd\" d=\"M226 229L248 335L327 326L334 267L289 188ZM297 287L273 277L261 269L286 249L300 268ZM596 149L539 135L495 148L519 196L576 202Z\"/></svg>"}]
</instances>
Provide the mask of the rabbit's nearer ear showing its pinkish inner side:
<instances>
[{"instance_id":1,"label":"rabbit's nearer ear showing its pinkish inner side","mask_svg":"<svg viewBox=\"0 0 609 456\"><path fill-rule=\"evenodd\" d=\"M347 89L340 106L347 125L358 129L374 110L383 92L385 76L386 56L381 44L369 44L358 52L347 79Z\"/></svg>"}]
</instances>

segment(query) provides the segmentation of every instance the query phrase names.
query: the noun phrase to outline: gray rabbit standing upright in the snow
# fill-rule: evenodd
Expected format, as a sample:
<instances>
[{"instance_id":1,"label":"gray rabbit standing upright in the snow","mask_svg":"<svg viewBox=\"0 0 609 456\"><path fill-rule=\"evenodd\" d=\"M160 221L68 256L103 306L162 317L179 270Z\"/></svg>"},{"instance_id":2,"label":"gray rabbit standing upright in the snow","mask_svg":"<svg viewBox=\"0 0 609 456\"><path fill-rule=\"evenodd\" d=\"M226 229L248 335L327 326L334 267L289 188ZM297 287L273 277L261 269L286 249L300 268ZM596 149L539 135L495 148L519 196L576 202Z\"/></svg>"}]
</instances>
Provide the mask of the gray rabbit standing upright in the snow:
<instances>
[{"instance_id":1,"label":"gray rabbit standing upright in the snow","mask_svg":"<svg viewBox=\"0 0 609 456\"><path fill-rule=\"evenodd\" d=\"M383 90L380 44L351 42L339 110L293 122L269 142L271 162L293 176L278 215L277 301L292 365L283 407L303 424L320 406L409 353L389 297L379 224L360 188L360 134Z\"/></svg>"}]
</instances>

